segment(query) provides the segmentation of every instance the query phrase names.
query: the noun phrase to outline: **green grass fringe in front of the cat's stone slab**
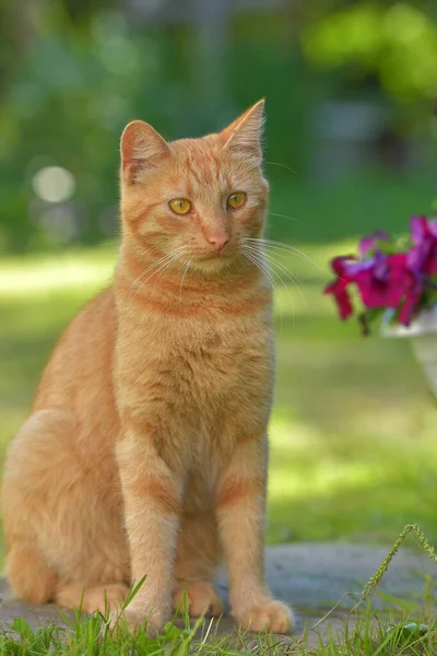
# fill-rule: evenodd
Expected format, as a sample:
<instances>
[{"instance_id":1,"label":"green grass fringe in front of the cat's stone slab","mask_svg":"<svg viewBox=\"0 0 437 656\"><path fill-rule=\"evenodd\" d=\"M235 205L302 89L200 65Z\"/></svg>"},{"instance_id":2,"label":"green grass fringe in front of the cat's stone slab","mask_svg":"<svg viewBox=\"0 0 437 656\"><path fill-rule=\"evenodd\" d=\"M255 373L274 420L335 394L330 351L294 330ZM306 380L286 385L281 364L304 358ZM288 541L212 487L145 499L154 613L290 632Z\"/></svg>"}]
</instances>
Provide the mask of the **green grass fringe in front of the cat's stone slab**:
<instances>
[{"instance_id":1,"label":"green grass fringe in front of the cat's stone slab","mask_svg":"<svg viewBox=\"0 0 437 656\"><path fill-rule=\"evenodd\" d=\"M435 599L433 598L435 601ZM395 601L395 600L394 600ZM402 600L401 600L402 601ZM32 628L24 619L0 630L0 656L434 656L437 624L423 601L414 613L376 614L367 605L342 621L307 626L299 637L221 630L221 619L179 618L156 639L141 626L132 635L122 621L110 629L107 616L60 612L63 624Z\"/></svg>"}]
</instances>

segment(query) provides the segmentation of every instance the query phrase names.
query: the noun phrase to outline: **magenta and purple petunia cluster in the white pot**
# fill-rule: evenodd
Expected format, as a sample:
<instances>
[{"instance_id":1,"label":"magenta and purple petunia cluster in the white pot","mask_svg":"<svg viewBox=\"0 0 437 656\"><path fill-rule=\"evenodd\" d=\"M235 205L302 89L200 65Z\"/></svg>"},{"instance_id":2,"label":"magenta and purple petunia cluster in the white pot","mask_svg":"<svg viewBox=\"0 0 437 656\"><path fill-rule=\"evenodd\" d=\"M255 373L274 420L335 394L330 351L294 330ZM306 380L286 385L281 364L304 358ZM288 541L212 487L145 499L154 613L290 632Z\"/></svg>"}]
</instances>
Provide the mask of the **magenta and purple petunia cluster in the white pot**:
<instances>
[{"instance_id":1,"label":"magenta and purple petunia cluster in the white pot","mask_svg":"<svg viewBox=\"0 0 437 656\"><path fill-rule=\"evenodd\" d=\"M365 308L359 318L366 331L370 318L388 308L409 326L420 309L437 303L437 221L413 216L404 248L376 232L362 239L358 256L336 257L332 268L336 278L324 293L332 294L342 319L353 314L350 291L355 285Z\"/></svg>"}]
</instances>

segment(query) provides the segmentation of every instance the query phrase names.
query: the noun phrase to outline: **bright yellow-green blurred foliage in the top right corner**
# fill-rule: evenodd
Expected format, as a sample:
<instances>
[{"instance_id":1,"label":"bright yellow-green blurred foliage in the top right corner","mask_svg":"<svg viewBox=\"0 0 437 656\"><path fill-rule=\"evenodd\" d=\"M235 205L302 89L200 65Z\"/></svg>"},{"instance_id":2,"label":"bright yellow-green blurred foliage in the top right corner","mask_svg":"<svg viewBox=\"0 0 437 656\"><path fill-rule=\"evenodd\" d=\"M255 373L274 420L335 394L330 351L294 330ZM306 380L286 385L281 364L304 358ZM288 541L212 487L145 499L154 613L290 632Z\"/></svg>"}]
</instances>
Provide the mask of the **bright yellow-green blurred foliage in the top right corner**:
<instances>
[{"instance_id":1,"label":"bright yellow-green blurred foliage in the top right corner","mask_svg":"<svg viewBox=\"0 0 437 656\"><path fill-rule=\"evenodd\" d=\"M309 21L302 34L306 56L323 68L358 65L377 73L400 101L437 94L437 24L432 5L355 2Z\"/></svg>"}]
</instances>

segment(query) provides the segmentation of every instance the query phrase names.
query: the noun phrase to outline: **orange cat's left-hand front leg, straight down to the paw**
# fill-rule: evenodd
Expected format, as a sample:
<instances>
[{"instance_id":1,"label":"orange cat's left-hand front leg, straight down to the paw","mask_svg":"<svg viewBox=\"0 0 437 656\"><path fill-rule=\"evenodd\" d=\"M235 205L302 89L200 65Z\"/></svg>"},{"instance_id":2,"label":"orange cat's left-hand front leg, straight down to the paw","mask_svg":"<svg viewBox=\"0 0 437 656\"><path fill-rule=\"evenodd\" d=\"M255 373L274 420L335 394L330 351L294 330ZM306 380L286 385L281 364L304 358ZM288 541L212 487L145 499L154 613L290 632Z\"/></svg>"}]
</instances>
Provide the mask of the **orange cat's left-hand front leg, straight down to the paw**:
<instances>
[{"instance_id":1,"label":"orange cat's left-hand front leg, straight down to the paw","mask_svg":"<svg viewBox=\"0 0 437 656\"><path fill-rule=\"evenodd\" d=\"M155 635L172 617L174 560L182 485L160 457L147 426L128 427L117 445L131 579L145 581L123 611L132 631Z\"/></svg>"}]
</instances>

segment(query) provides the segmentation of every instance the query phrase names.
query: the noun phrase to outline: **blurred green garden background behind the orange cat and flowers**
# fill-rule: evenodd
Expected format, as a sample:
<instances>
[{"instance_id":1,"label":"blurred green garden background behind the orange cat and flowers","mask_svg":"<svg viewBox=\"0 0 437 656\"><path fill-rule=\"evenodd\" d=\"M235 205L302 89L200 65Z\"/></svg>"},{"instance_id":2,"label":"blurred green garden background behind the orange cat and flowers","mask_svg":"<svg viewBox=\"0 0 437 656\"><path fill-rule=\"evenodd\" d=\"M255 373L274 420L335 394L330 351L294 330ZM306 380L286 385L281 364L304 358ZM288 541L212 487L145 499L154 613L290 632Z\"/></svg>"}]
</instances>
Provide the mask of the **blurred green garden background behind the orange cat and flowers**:
<instances>
[{"instance_id":1,"label":"blurred green garden background behind the orange cat and flowers","mask_svg":"<svg viewBox=\"0 0 437 656\"><path fill-rule=\"evenodd\" d=\"M410 344L364 339L322 295L333 255L433 210L436 21L413 0L3 0L1 457L110 280L123 126L194 137L267 96L269 236L315 261L271 251L290 273L272 261L268 540L392 540L413 522L437 539L437 409Z\"/></svg>"}]
</instances>

